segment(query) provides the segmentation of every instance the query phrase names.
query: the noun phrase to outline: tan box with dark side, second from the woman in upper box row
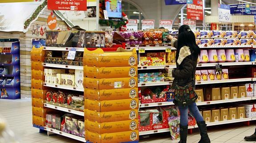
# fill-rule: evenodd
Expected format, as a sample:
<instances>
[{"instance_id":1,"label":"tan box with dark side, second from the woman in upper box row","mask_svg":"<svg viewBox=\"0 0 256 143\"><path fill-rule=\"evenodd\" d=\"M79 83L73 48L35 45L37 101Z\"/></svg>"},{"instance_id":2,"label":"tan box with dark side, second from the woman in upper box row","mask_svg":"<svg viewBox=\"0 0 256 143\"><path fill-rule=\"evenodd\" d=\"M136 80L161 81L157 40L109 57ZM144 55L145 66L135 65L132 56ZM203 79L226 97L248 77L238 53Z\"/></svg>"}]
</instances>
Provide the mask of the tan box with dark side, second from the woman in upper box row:
<instances>
[{"instance_id":1,"label":"tan box with dark side, second from the woman in upper box row","mask_svg":"<svg viewBox=\"0 0 256 143\"><path fill-rule=\"evenodd\" d=\"M207 101L221 100L219 88L206 88L204 97Z\"/></svg>"}]
</instances>

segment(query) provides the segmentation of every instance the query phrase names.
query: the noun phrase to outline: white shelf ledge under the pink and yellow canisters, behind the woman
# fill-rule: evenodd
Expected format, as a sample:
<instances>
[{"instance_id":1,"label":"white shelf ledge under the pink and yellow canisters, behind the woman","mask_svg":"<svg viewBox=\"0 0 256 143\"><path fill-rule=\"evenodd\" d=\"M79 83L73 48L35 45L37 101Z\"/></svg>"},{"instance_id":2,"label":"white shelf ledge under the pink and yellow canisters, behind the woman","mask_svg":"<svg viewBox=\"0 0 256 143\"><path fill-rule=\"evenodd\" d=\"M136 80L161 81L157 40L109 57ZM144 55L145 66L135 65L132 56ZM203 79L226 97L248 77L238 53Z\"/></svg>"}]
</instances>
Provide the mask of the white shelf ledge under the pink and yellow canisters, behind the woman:
<instances>
[{"instance_id":1,"label":"white shelf ledge under the pink and yellow canisters, behind the woman","mask_svg":"<svg viewBox=\"0 0 256 143\"><path fill-rule=\"evenodd\" d=\"M222 66L241 66L241 65L256 65L256 62L219 62L219 63L201 63L197 64L197 67L210 67L216 65ZM176 68L176 65L162 65L162 66L138 66L138 70L154 70L164 69L164 67Z\"/></svg>"}]
</instances>

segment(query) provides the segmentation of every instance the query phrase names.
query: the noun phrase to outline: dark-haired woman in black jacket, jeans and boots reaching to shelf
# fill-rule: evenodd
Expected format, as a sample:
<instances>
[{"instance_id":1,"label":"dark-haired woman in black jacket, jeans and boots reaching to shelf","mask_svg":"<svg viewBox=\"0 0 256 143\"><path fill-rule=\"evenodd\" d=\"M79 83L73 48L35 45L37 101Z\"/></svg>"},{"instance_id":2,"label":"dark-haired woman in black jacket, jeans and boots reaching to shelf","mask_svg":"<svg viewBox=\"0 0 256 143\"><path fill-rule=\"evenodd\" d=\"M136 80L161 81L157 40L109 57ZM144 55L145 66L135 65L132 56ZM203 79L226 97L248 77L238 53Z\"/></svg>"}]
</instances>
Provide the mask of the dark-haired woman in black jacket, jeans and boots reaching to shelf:
<instances>
[{"instance_id":1,"label":"dark-haired woman in black jacket, jeans and boots reaching to shelf","mask_svg":"<svg viewBox=\"0 0 256 143\"><path fill-rule=\"evenodd\" d=\"M176 69L168 70L168 75L174 77L172 89L175 89L174 103L178 106L180 112L180 141L187 143L188 110L195 117L200 130L201 139L199 143L211 143L207 134L207 128L203 116L200 114L195 100L195 69L197 58L200 53L199 47L195 43L195 35L188 25L179 27L178 39L171 35L167 36L171 40L171 46L177 49Z\"/></svg>"}]
</instances>

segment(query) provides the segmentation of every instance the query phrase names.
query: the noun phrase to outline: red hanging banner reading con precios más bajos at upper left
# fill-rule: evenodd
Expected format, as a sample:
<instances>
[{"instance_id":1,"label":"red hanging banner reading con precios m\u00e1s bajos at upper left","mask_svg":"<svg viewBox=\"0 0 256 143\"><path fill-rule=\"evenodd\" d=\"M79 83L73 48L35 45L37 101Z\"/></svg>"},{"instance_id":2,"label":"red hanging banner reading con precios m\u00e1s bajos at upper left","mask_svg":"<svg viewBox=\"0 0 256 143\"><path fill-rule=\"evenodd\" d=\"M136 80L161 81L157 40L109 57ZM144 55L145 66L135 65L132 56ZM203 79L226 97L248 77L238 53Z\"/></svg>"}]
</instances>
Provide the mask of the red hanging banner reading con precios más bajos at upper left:
<instances>
[{"instance_id":1,"label":"red hanging banner reading con precios m\u00e1s bajos at upper left","mask_svg":"<svg viewBox=\"0 0 256 143\"><path fill-rule=\"evenodd\" d=\"M49 10L86 11L87 0L48 0Z\"/></svg>"}]
</instances>

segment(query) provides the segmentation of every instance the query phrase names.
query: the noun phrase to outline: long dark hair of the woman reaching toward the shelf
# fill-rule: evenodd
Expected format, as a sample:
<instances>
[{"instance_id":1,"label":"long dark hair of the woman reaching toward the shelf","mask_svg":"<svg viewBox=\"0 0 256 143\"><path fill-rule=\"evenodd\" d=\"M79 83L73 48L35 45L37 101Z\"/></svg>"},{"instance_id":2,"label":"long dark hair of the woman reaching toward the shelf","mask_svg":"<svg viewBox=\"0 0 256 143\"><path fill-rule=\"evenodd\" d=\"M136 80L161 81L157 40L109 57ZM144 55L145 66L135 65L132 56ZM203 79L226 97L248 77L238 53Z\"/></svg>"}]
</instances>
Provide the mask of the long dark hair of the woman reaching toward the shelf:
<instances>
[{"instance_id":1,"label":"long dark hair of the woman reaching toward the shelf","mask_svg":"<svg viewBox=\"0 0 256 143\"><path fill-rule=\"evenodd\" d=\"M200 53L200 49L199 49L199 46L195 43L195 35L193 31L191 31L188 25L182 25L179 27L176 60L179 57L179 50L183 46L188 46L191 50L191 54L198 57L198 54Z\"/></svg>"}]
</instances>

